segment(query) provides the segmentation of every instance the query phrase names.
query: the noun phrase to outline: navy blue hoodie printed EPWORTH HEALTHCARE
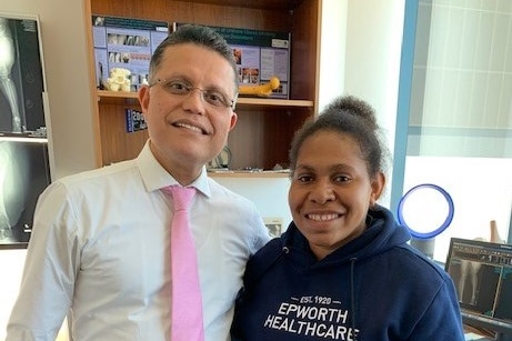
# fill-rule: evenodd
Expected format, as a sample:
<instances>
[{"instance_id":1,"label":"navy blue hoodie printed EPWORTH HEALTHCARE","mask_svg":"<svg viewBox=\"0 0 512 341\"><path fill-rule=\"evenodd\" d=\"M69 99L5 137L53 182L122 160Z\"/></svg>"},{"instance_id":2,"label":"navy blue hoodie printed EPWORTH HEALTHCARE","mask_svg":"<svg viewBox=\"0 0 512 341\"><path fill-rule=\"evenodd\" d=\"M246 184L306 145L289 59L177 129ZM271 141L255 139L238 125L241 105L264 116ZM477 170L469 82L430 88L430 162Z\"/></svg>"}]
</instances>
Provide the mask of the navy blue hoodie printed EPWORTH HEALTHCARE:
<instances>
[{"instance_id":1,"label":"navy blue hoodie printed EPWORTH HEALTHCARE","mask_svg":"<svg viewBox=\"0 0 512 341\"><path fill-rule=\"evenodd\" d=\"M411 248L392 213L317 260L292 222L248 262L233 340L464 340L446 272Z\"/></svg>"}]
</instances>

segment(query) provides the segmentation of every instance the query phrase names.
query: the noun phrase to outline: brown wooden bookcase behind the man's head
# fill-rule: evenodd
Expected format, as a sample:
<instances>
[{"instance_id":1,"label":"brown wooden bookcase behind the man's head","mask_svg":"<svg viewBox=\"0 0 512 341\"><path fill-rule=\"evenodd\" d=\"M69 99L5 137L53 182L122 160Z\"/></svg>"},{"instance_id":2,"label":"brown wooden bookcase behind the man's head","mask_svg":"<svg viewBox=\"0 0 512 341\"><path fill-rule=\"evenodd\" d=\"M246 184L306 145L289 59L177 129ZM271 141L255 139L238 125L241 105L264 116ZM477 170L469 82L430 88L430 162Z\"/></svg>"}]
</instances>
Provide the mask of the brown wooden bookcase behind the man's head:
<instances>
[{"instance_id":1,"label":"brown wooden bookcase behind the man's head","mask_svg":"<svg viewBox=\"0 0 512 341\"><path fill-rule=\"evenodd\" d=\"M84 0L84 6L91 80L92 14L291 32L290 100L240 98L239 120L228 140L231 169L288 164L294 131L317 113L321 0ZM91 88L98 167L135 157L148 136L126 132L124 110L138 108L137 94Z\"/></svg>"}]
</instances>

